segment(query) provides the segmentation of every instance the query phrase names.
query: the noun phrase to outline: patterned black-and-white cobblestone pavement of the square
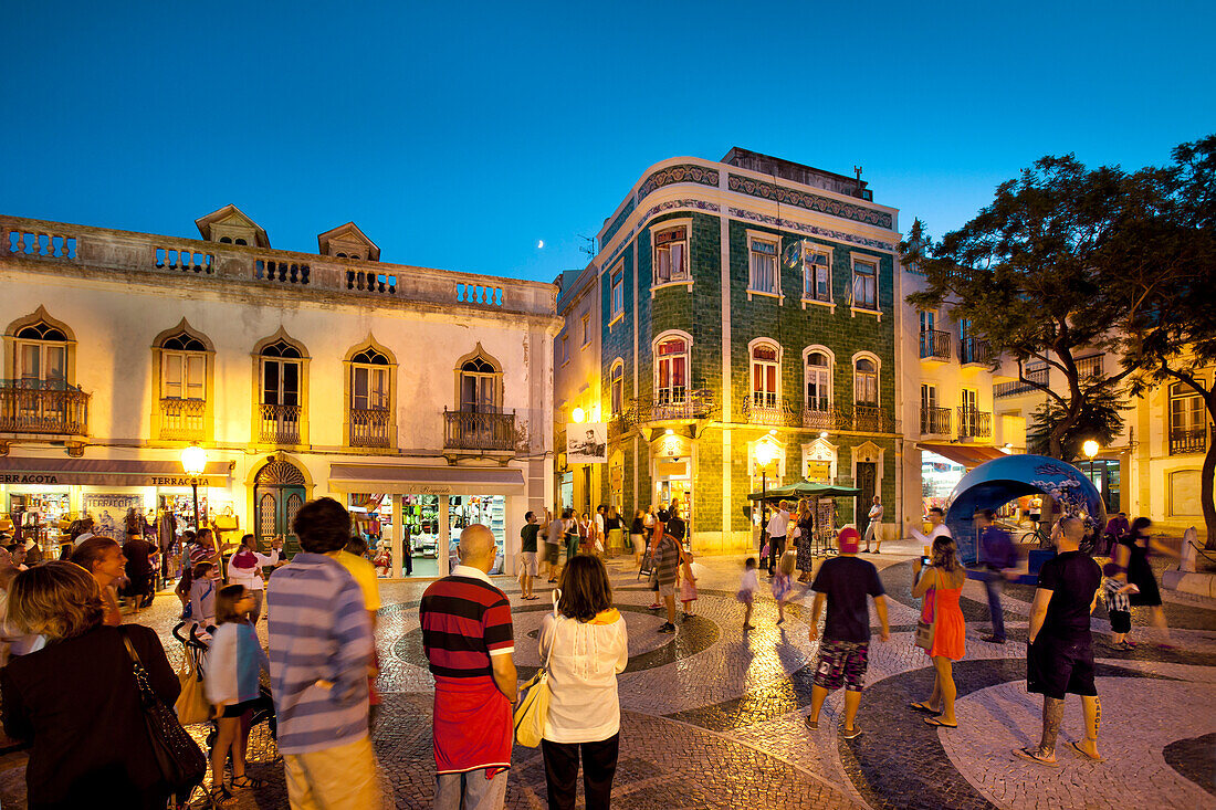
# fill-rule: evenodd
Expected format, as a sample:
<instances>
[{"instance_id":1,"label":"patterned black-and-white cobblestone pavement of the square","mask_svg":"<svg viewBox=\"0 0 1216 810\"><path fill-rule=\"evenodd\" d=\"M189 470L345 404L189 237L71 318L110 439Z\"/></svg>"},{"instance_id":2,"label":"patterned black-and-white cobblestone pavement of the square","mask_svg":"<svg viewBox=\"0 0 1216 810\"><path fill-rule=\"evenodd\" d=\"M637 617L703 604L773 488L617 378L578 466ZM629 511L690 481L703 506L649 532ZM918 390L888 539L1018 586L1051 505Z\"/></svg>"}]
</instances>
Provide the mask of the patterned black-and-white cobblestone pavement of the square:
<instances>
[{"instance_id":1,"label":"patterned black-and-white cobblestone pavement of the square","mask_svg":"<svg viewBox=\"0 0 1216 810\"><path fill-rule=\"evenodd\" d=\"M933 730L907 709L923 699L933 670L913 647L918 603L911 598L910 550L885 544L866 556L882 569L893 636L872 642L867 688L854 741L840 735L843 694L828 698L820 727L810 710L817 645L809 641L810 600L787 608L762 592L744 632L734 591L741 557L698 559L704 574L696 615L680 632L657 632L665 617L651 612L651 591L620 562L612 562L614 596L630 635L630 664L619 679L620 764L613 804L631 810L693 808L1198 808L1216 806L1216 602L1166 594L1176 649L1155 643L1136 614L1135 651L1105 643L1104 608L1094 614L1098 690L1103 699L1100 746L1107 761L1073 754L1082 732L1079 701L1066 703L1058 756L1046 769L1012 755L1037 741L1038 696L1025 690L1029 586L1002 596L1009 641L980 641L989 631L983 585L968 581L963 612L967 657L955 665L957 730ZM535 636L547 598L522 602L518 585L499 580L512 597L516 662L522 676L540 664ZM373 735L385 806L426 808L433 795L430 702L433 681L422 657L417 601L426 583L382 585L377 643L384 693ZM542 594L547 597L547 592ZM139 617L161 631L174 665L180 645L169 630L176 600L161 596ZM877 618L872 617L877 625ZM265 635L265 624L260 631ZM192 731L199 739L203 727ZM255 727L249 772L268 787L241 794L238 808L283 808L282 765L265 726ZM0 804L24 806L23 755L0 756ZM202 803L199 804L202 806ZM517 747L507 806L546 806L539 750Z\"/></svg>"}]
</instances>

